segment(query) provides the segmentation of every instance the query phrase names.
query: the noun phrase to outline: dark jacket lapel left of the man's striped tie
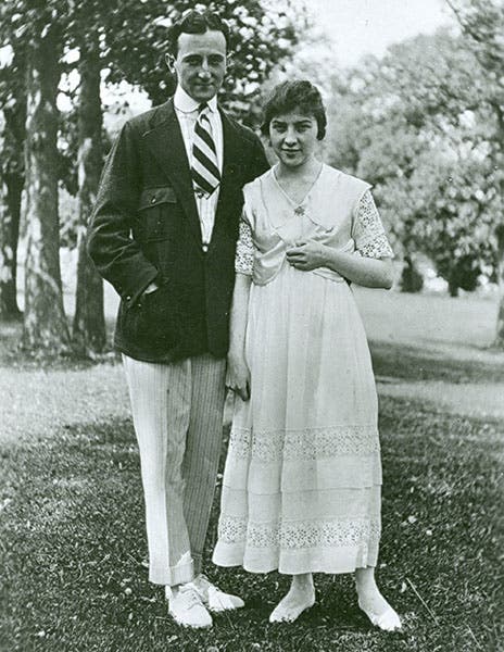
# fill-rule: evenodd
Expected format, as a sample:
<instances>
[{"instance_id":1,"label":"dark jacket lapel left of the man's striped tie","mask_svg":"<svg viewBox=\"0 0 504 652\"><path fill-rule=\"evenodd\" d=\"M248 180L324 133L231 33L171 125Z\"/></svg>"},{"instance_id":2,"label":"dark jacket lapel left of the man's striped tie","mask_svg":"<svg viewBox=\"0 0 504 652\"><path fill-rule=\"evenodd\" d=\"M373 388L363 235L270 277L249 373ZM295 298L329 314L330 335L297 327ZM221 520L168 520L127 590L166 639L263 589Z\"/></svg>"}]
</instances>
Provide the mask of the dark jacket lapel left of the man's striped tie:
<instances>
[{"instance_id":1,"label":"dark jacket lapel left of the man's striped tie","mask_svg":"<svg viewBox=\"0 0 504 652\"><path fill-rule=\"evenodd\" d=\"M201 243L201 227L192 189L186 147L173 104L173 99L160 106L152 118L152 129L143 134L149 149L165 171L189 220L189 226Z\"/></svg>"}]
</instances>

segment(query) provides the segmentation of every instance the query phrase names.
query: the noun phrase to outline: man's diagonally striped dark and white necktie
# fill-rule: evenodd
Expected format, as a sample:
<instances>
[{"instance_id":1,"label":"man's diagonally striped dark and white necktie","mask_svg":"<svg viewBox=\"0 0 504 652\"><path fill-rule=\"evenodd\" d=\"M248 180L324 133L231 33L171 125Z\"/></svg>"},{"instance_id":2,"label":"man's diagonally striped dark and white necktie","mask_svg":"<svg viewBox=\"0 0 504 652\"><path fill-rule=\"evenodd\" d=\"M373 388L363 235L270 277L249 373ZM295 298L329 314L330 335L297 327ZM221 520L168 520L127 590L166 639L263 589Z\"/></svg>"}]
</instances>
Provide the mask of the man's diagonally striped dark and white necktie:
<instances>
[{"instance_id":1,"label":"man's diagonally striped dark and white necktie","mask_svg":"<svg viewBox=\"0 0 504 652\"><path fill-rule=\"evenodd\" d=\"M192 142L192 181L197 193L210 196L220 183L217 150L212 136L212 124L209 120L209 105L199 106L199 115L194 125Z\"/></svg>"}]
</instances>

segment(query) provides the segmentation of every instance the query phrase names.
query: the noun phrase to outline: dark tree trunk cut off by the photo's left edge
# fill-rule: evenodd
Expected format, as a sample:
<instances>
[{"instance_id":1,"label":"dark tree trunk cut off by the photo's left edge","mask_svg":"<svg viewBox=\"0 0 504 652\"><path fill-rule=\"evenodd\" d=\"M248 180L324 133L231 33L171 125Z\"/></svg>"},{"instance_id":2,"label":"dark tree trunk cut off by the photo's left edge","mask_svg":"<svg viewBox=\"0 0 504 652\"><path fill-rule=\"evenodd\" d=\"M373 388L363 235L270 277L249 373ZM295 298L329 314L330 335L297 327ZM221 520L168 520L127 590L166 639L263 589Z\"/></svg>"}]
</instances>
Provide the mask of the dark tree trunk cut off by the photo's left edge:
<instances>
[{"instance_id":1,"label":"dark tree trunk cut off by the photo's left edge","mask_svg":"<svg viewBox=\"0 0 504 652\"><path fill-rule=\"evenodd\" d=\"M4 175L0 184L0 319L17 319L17 240L24 179Z\"/></svg>"}]
</instances>

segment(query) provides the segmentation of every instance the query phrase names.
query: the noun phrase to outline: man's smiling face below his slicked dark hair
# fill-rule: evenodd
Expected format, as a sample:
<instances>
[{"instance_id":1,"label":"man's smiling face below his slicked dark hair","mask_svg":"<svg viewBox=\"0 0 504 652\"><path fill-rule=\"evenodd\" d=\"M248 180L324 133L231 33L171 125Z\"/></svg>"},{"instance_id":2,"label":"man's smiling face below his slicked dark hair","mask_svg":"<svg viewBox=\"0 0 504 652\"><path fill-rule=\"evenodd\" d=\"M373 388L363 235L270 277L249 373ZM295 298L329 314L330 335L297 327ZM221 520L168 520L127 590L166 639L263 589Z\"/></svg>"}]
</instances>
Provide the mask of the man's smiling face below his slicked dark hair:
<instances>
[{"instance_id":1,"label":"man's smiling face below his slicked dark hair","mask_svg":"<svg viewBox=\"0 0 504 652\"><path fill-rule=\"evenodd\" d=\"M207 102L220 88L226 73L226 39L222 32L178 37L174 62L178 84L197 102Z\"/></svg>"}]
</instances>

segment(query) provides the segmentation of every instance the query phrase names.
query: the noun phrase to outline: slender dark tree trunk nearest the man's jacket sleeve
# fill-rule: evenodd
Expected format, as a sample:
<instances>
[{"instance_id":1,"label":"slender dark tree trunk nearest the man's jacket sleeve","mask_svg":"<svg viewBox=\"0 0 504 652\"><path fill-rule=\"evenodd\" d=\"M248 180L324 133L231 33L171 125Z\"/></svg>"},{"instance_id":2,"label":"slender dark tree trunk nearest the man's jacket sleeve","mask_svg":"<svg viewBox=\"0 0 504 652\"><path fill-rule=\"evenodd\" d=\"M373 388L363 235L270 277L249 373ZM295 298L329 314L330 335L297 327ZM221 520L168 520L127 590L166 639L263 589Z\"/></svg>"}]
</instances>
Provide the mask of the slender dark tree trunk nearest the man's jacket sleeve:
<instances>
[{"instance_id":1,"label":"slender dark tree trunk nearest the man's jacket sleeve","mask_svg":"<svg viewBox=\"0 0 504 652\"><path fill-rule=\"evenodd\" d=\"M86 251L86 229L94 204L103 163L98 39L80 50L78 106L78 212L77 289L74 341L80 350L102 351L105 342L103 281Z\"/></svg>"}]
</instances>

